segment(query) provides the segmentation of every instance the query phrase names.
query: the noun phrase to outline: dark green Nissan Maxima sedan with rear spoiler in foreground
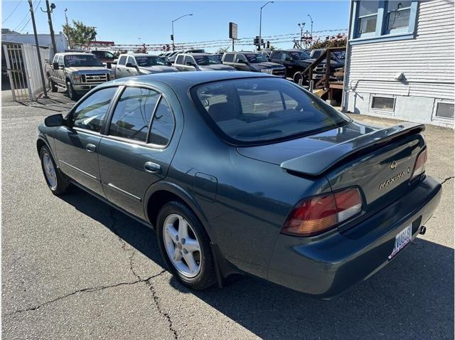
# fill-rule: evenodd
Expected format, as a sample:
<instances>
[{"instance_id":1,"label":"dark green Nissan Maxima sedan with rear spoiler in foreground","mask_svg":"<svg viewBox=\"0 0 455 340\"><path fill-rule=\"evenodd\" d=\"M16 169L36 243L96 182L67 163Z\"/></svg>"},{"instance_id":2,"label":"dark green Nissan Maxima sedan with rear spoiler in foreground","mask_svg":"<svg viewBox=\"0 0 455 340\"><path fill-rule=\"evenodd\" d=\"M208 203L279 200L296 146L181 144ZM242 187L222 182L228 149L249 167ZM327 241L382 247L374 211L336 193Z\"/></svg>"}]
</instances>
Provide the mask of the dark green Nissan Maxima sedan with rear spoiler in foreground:
<instances>
[{"instance_id":1,"label":"dark green Nissan Maxima sedan with rear spoiler in foreground","mask_svg":"<svg viewBox=\"0 0 455 340\"><path fill-rule=\"evenodd\" d=\"M50 191L79 186L155 228L193 289L250 273L333 297L423 234L441 197L423 125L353 122L261 73L117 79L44 122Z\"/></svg>"}]
</instances>

